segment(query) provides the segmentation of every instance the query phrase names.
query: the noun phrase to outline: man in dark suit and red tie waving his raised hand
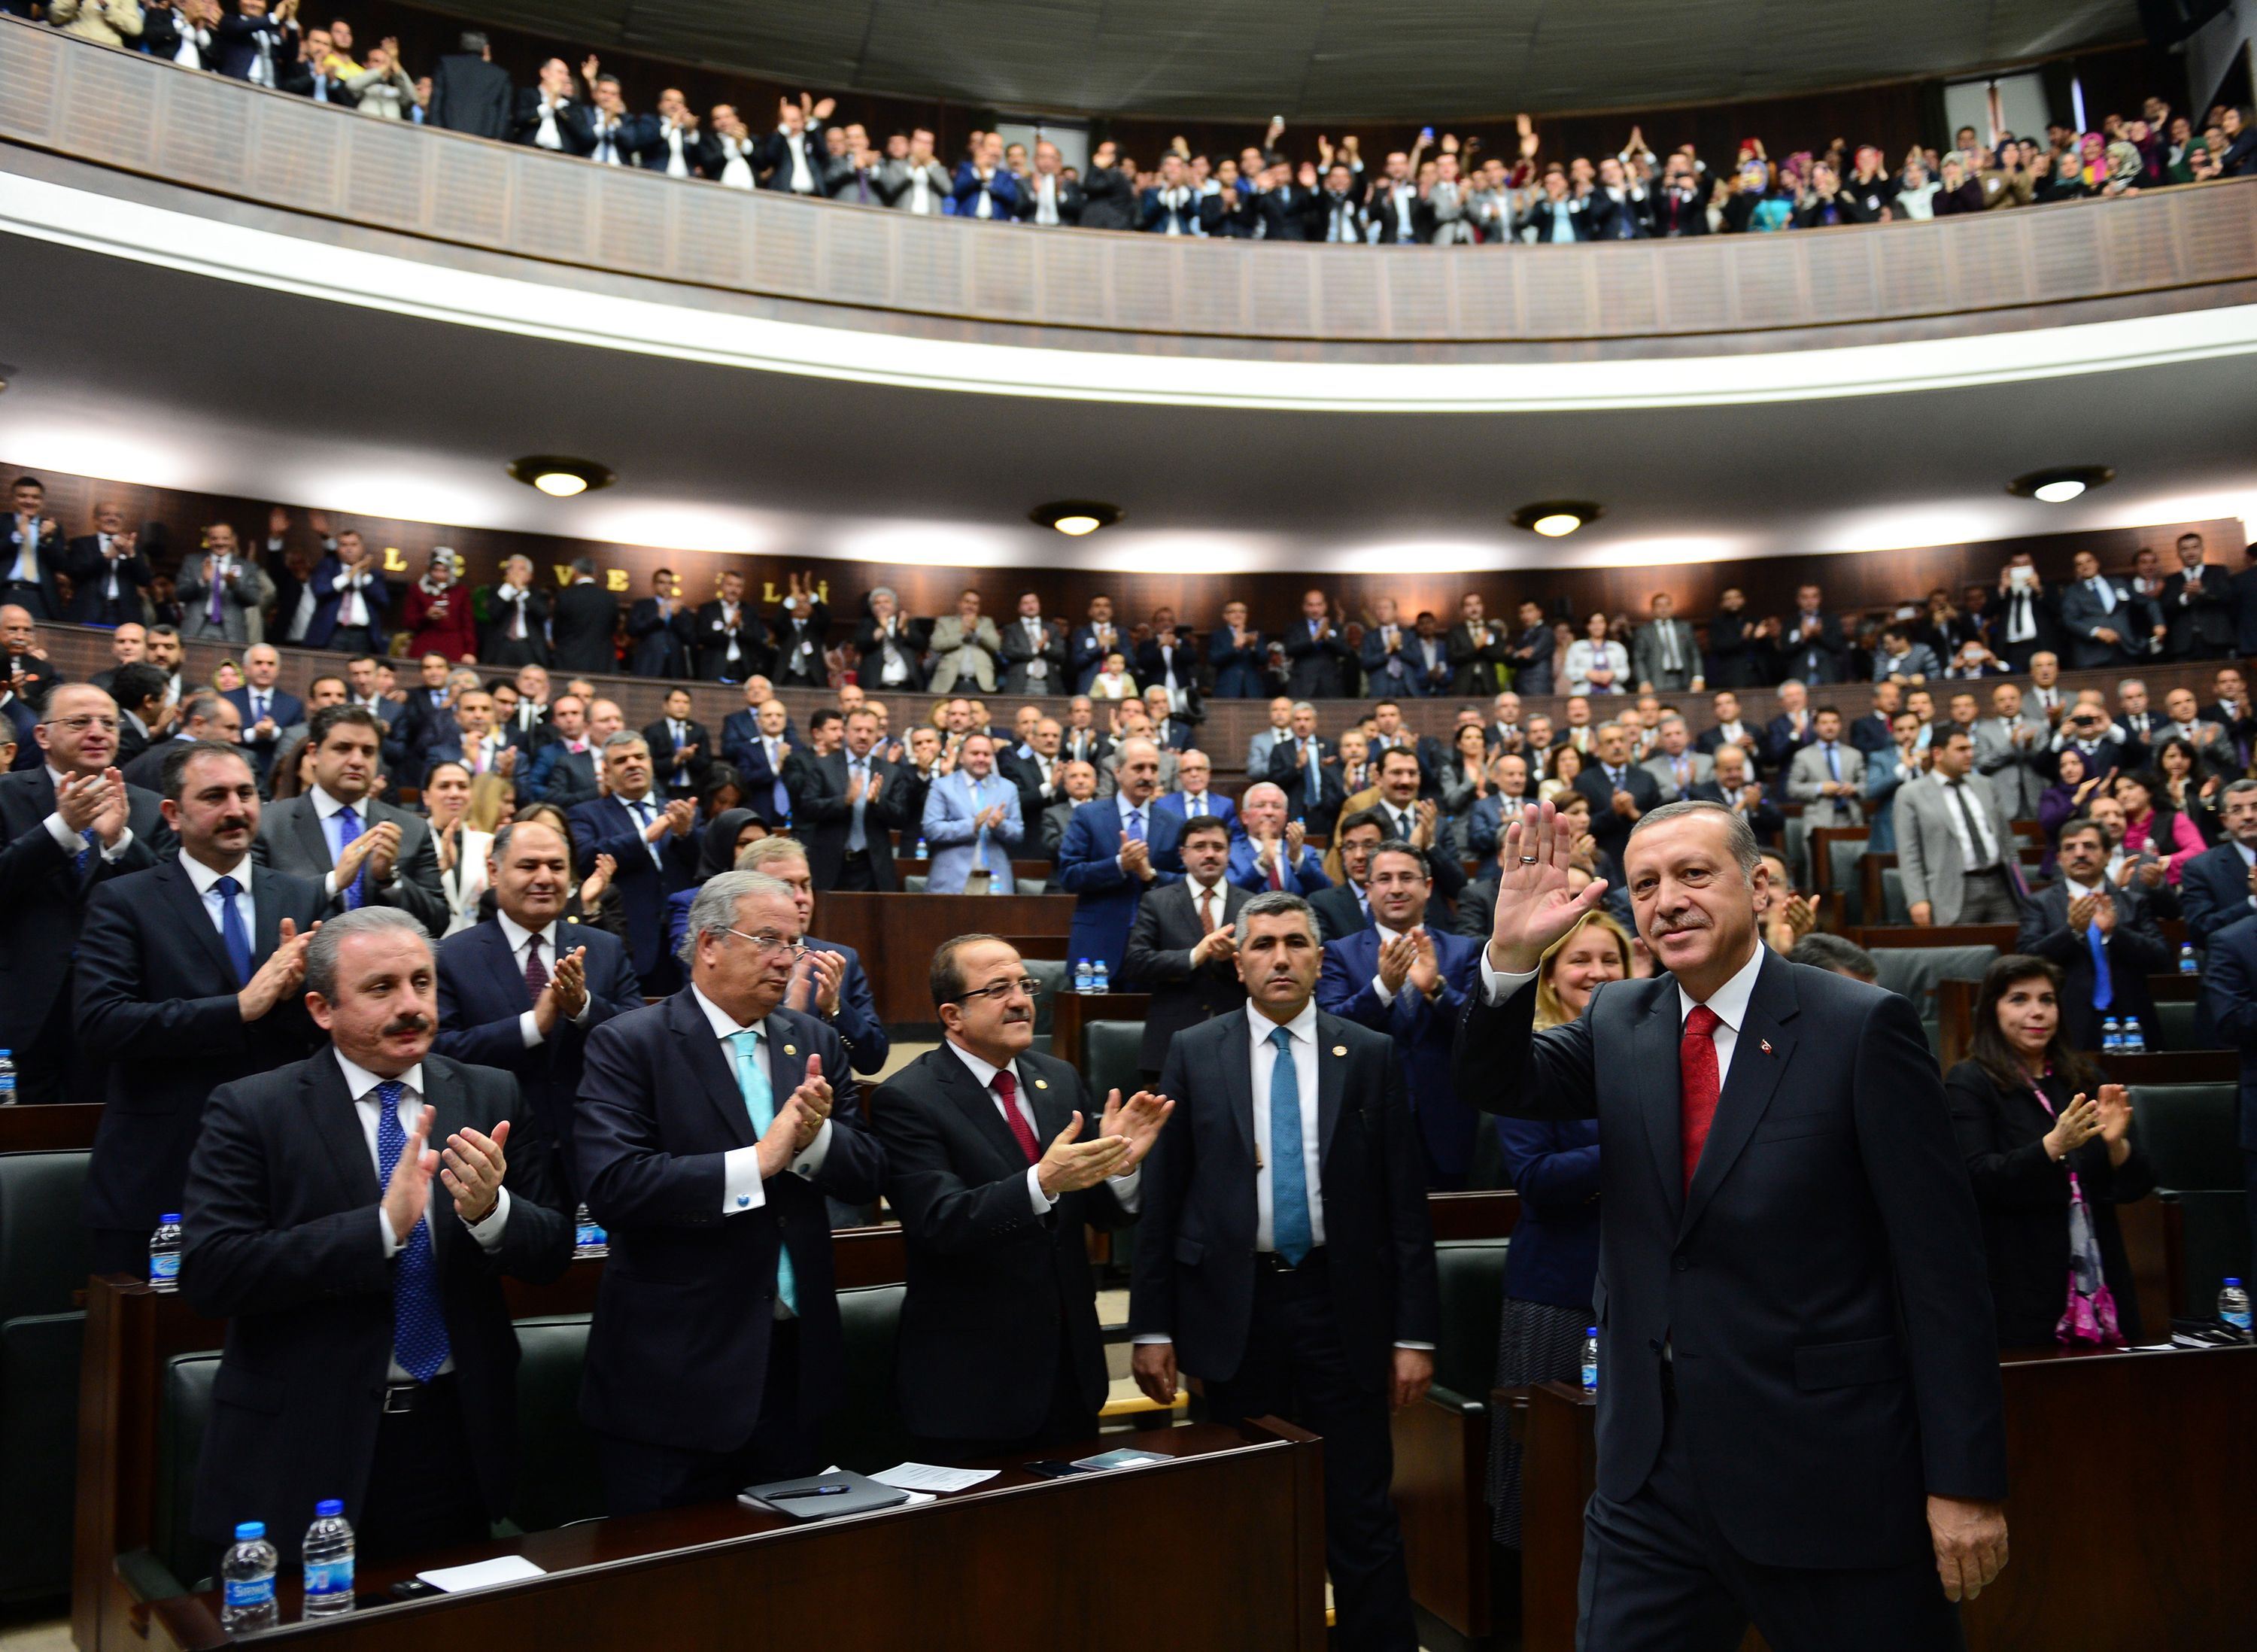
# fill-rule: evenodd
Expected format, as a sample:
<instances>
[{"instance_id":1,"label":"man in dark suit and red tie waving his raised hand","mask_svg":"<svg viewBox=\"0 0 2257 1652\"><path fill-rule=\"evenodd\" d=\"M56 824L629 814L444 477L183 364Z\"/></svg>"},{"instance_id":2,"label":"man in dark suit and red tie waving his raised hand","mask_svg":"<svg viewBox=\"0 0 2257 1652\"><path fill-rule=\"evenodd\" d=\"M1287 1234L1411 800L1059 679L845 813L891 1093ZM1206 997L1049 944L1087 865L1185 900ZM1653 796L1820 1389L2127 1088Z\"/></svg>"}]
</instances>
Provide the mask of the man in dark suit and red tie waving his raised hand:
<instances>
[{"instance_id":1,"label":"man in dark suit and red tie waving his raised hand","mask_svg":"<svg viewBox=\"0 0 2257 1652\"><path fill-rule=\"evenodd\" d=\"M1598 1117L1578 1643L1733 1647L1754 1620L1779 1647L1957 1647L1950 1602L2006 1559L2006 1435L1982 1228L1912 1007L1765 948L1754 837L1684 801L1625 860L1668 973L1535 1034L1544 948L1605 882L1569 894L1548 803L1505 837L1456 1072L1492 1113Z\"/></svg>"}]
</instances>

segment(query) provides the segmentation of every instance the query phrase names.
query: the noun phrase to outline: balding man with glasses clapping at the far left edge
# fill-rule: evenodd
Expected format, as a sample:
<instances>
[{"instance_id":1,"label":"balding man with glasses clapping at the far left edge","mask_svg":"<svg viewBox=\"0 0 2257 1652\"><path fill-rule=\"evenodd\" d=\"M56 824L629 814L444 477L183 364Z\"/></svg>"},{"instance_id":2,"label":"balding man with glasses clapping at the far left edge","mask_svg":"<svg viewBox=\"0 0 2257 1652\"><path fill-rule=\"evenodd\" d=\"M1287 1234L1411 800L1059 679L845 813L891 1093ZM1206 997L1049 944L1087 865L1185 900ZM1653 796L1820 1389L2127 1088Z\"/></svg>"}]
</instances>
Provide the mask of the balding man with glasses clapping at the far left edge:
<instances>
[{"instance_id":1,"label":"balding man with glasses clapping at the far left edge","mask_svg":"<svg viewBox=\"0 0 2257 1652\"><path fill-rule=\"evenodd\" d=\"M32 740L34 765L0 774L0 1045L18 1101L99 1101L70 1036L70 955L88 894L153 867L172 831L115 767L117 704L99 688L50 693Z\"/></svg>"}]
</instances>

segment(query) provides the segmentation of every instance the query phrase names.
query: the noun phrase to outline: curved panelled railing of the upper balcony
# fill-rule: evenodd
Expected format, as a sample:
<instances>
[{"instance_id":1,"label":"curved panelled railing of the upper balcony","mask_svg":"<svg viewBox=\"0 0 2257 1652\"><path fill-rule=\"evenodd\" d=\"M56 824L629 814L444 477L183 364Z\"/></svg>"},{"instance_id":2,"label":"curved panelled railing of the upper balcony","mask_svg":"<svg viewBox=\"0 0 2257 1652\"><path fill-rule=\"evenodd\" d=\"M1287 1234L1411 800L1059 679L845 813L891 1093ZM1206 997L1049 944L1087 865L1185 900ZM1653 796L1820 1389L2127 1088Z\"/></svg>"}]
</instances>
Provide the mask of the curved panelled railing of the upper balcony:
<instances>
[{"instance_id":1,"label":"curved panelled railing of the upper balcony","mask_svg":"<svg viewBox=\"0 0 2257 1652\"><path fill-rule=\"evenodd\" d=\"M1447 354L1808 339L2002 309L2090 314L2090 300L2117 300L2119 314L2124 300L2201 307L2239 302L2239 284L2257 280L2257 181L1690 241L1183 241L919 219L596 167L0 25L5 144L431 241L903 318Z\"/></svg>"}]
</instances>

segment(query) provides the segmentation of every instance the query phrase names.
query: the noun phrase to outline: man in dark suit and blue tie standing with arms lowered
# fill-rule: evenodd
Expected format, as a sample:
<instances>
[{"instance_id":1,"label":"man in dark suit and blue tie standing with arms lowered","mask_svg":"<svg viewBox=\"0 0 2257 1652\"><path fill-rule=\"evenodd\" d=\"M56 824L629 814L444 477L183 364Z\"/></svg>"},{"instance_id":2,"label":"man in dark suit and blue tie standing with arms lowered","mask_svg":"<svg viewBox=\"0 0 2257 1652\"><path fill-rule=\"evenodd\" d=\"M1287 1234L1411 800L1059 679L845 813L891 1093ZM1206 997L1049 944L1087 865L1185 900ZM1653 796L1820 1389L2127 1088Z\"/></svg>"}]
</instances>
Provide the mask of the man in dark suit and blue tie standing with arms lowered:
<instances>
[{"instance_id":1,"label":"man in dark suit and blue tie standing with arms lowered","mask_svg":"<svg viewBox=\"0 0 2257 1652\"><path fill-rule=\"evenodd\" d=\"M1217 1422L1325 1435L1338 1641L1411 1652L1388 1401L1426 1392L1442 1327L1411 1104L1386 1034L1318 1011L1307 900L1239 907L1237 957L1248 1007L1176 1034L1160 1074L1178 1117L1140 1187L1135 1379L1169 1404L1180 1361Z\"/></svg>"}]
</instances>

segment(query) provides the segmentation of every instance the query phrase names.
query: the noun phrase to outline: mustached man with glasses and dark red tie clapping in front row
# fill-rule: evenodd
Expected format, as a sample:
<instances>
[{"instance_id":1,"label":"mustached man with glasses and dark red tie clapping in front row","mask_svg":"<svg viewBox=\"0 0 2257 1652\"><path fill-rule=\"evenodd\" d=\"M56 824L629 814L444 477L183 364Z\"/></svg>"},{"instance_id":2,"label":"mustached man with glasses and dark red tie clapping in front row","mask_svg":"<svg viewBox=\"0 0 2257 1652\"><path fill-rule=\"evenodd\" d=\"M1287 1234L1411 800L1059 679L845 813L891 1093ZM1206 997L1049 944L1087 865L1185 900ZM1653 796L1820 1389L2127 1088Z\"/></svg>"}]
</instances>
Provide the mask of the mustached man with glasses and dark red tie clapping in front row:
<instances>
[{"instance_id":1,"label":"mustached man with glasses and dark red tie clapping in front row","mask_svg":"<svg viewBox=\"0 0 2257 1652\"><path fill-rule=\"evenodd\" d=\"M1097 1435L1106 1350L1083 1228L1135 1219L1174 1104L1034 1052L1038 984L998 934L932 955L941 1045L871 1097L910 1291L896 1395L925 1462L1052 1456Z\"/></svg>"}]
</instances>

